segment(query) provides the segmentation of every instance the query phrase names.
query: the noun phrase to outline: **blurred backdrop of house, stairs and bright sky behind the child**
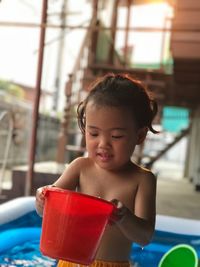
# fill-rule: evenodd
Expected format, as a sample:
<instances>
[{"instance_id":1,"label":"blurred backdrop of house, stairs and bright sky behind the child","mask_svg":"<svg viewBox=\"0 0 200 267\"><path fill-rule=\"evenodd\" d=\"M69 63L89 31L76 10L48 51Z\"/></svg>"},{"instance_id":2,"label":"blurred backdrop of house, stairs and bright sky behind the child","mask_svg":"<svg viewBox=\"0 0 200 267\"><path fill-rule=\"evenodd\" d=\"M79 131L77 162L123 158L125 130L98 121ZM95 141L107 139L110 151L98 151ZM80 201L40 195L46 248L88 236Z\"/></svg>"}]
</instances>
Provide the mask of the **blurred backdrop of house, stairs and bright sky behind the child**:
<instances>
[{"instance_id":1,"label":"blurred backdrop of house, stairs and bright sky behind the child","mask_svg":"<svg viewBox=\"0 0 200 267\"><path fill-rule=\"evenodd\" d=\"M133 157L158 179L157 210L200 219L200 2L0 2L0 203L34 195L84 155L77 104L108 72L155 95Z\"/></svg>"}]
</instances>

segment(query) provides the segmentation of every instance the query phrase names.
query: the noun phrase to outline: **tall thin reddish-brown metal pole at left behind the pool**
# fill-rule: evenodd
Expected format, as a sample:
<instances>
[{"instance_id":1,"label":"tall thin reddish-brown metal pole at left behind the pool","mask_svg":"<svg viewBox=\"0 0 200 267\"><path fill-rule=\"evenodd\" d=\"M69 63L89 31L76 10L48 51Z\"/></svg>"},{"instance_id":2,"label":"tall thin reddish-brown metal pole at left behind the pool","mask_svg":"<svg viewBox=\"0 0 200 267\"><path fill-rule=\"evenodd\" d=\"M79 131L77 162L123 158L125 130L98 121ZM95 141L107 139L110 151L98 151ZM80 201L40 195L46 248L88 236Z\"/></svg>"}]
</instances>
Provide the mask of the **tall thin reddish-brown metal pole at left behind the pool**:
<instances>
[{"instance_id":1,"label":"tall thin reddish-brown metal pole at left behind the pool","mask_svg":"<svg viewBox=\"0 0 200 267\"><path fill-rule=\"evenodd\" d=\"M48 8L48 0L43 0L41 25L46 24L47 8ZM35 99L34 99L34 106L33 106L31 143L30 143L30 150L29 150L28 170L27 170L26 181L25 181L25 195L26 196L31 195L32 185L33 185L37 126L38 126L37 122L38 122L38 118L39 118L39 103L40 103L40 93L41 93L41 80L42 80L42 66L43 66L45 33L46 33L46 27L41 27L40 42L39 42L39 54L38 54L38 67L37 67L37 80L36 80L36 88L35 88L36 92L35 92Z\"/></svg>"}]
</instances>

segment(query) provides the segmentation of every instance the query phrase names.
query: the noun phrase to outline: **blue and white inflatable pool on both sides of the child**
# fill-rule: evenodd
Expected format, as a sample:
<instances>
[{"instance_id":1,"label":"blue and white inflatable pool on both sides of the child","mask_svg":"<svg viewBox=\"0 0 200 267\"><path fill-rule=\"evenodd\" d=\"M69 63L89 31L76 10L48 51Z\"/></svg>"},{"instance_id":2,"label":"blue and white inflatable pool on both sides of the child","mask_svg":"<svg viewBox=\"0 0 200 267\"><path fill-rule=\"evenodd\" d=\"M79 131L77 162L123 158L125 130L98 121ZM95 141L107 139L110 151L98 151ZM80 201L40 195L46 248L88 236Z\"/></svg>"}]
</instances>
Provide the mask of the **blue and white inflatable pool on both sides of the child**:
<instances>
[{"instance_id":1,"label":"blue and white inflatable pool on both sides of the child","mask_svg":"<svg viewBox=\"0 0 200 267\"><path fill-rule=\"evenodd\" d=\"M22 197L0 205L0 266L56 266L39 250L41 218L35 198ZM157 267L173 246L188 244L200 258L200 221L157 215L152 242L133 244L130 260L137 267Z\"/></svg>"}]
</instances>

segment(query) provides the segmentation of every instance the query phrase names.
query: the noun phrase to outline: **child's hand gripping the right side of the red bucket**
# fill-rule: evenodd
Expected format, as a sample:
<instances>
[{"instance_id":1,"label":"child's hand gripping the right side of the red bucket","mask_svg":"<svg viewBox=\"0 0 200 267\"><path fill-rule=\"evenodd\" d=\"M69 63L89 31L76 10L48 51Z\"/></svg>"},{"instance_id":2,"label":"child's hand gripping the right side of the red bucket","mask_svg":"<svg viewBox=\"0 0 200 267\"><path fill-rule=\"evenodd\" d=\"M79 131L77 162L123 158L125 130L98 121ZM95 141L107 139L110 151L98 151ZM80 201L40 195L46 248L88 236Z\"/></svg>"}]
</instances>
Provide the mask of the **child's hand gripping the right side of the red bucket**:
<instances>
[{"instance_id":1,"label":"child's hand gripping the right side of the red bucket","mask_svg":"<svg viewBox=\"0 0 200 267\"><path fill-rule=\"evenodd\" d=\"M118 199L112 199L111 202L116 206L112 216L111 216L111 224L113 223L121 223L127 214L128 208Z\"/></svg>"}]
</instances>

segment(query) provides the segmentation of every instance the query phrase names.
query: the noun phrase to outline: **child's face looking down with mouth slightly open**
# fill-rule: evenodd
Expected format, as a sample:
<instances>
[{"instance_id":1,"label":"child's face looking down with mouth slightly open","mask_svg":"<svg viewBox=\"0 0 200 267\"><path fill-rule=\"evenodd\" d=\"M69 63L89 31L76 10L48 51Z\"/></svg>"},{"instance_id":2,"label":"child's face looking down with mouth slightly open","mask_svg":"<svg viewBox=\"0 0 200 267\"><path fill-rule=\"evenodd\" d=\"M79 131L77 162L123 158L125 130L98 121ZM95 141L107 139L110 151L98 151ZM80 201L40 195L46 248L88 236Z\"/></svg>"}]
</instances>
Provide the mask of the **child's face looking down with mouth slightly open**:
<instances>
[{"instance_id":1,"label":"child's face looking down with mouth slightly open","mask_svg":"<svg viewBox=\"0 0 200 267\"><path fill-rule=\"evenodd\" d=\"M126 166L138 142L138 129L128 110L91 102L86 107L85 135L88 156L106 170Z\"/></svg>"}]
</instances>

